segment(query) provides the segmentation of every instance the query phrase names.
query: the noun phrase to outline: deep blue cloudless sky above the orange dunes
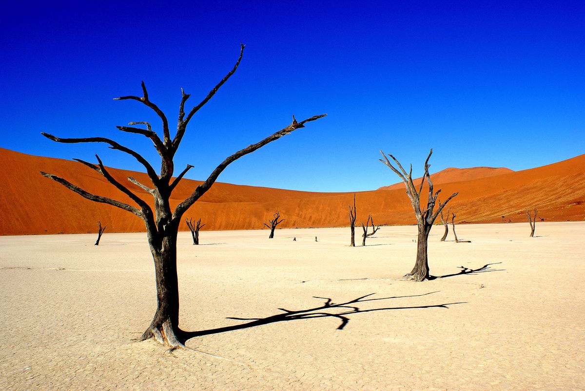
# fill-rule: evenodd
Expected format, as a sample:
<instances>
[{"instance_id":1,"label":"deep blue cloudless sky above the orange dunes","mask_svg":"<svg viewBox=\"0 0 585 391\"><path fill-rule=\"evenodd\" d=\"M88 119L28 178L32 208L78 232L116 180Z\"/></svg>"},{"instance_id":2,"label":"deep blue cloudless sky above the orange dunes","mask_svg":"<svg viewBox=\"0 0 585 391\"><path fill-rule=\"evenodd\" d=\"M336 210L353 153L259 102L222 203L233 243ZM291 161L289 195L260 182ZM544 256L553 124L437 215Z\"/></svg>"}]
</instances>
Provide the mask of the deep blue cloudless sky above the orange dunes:
<instances>
[{"instance_id":1,"label":"deep blue cloudless sky above the orange dunes","mask_svg":"<svg viewBox=\"0 0 585 391\"><path fill-rule=\"evenodd\" d=\"M176 171L205 179L223 158L297 119L328 113L234 162L219 181L362 191L415 174L519 170L585 153L585 2L14 2L0 16L0 147L143 171L104 136L158 155L115 126L150 120L140 81L176 124L180 88L195 105ZM158 126L155 127L157 129ZM6 169L6 168L3 168Z\"/></svg>"}]
</instances>

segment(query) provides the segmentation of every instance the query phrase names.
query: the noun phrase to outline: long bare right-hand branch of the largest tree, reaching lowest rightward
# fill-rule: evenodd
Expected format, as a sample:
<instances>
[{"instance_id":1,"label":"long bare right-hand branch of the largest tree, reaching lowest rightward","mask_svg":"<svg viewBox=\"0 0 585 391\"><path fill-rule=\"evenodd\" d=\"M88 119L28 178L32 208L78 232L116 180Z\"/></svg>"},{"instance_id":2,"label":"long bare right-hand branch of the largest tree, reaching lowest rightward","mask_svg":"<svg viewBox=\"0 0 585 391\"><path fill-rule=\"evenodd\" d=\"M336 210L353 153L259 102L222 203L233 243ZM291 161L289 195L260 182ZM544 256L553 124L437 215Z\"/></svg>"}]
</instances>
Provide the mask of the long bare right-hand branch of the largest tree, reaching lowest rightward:
<instances>
[{"instance_id":1,"label":"long bare right-hand branch of the largest tree, reaching lowest rightward","mask_svg":"<svg viewBox=\"0 0 585 391\"><path fill-rule=\"evenodd\" d=\"M214 171L211 173L211 175L209 175L209 177L207 178L207 180L204 183L197 186L197 188L195 188L195 191L187 199L185 199L183 202L181 202L177 206L177 208L175 209L175 211L173 213L173 219L180 219L181 216L183 216L183 213L185 213L185 211L187 209L189 209L189 207L191 205L193 205L193 203L195 201L197 201L199 199L199 197L204 195L204 193L207 192L209 190L209 188L211 188L211 185L214 184L215 180L219 177L219 174L221 174L221 172L226 167L228 167L228 165L230 163L232 163L235 160L238 160L240 157L242 157L244 155L247 155L249 153L252 153L253 151L256 151L258 148L265 146L266 144L270 143L271 141L278 140L278 139L280 139L280 137L283 137L286 134L292 133L295 130L300 129L301 127L304 127L304 124L307 122L311 122L311 121L317 120L317 119L325 117L325 116L326 116L326 114L316 115L316 116L312 116L308 119L305 119L302 122L298 122L296 124L290 124L287 127L285 127L284 129L281 129L278 132L273 133L270 136L266 137L266 139L261 140L256 144L252 144L251 146L248 146L248 147L244 148L243 150L240 150L240 151L236 152L235 154L231 155L230 157L226 158L226 160L221 162L221 164L219 164L218 167L216 167L214 169Z\"/></svg>"}]
</instances>

